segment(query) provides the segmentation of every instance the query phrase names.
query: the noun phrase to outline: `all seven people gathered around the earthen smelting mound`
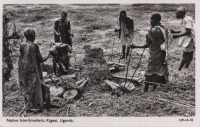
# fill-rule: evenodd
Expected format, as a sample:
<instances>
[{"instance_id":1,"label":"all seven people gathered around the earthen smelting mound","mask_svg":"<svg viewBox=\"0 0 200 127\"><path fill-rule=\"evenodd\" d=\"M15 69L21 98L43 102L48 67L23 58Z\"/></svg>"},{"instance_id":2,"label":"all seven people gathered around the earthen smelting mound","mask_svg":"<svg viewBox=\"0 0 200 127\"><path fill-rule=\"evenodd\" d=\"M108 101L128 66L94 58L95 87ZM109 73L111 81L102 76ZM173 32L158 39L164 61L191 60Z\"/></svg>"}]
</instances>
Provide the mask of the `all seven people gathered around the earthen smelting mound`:
<instances>
[{"instance_id":1,"label":"all seven people gathered around the earthen smelting mound","mask_svg":"<svg viewBox=\"0 0 200 127\"><path fill-rule=\"evenodd\" d=\"M180 7L176 11L178 19L182 19L182 28L180 31L171 30L174 34L173 38L180 38L179 45L185 47L183 52L183 59L178 70L181 70L185 65L188 68L193 58L194 52L194 21L191 17L186 15L186 9ZM16 36L9 37L6 34L7 18L4 17L4 33L3 33L3 60L6 66L3 68L3 78L8 78L13 68L8 39L16 38ZM130 48L149 48L150 58L148 60L147 70L145 73L145 88L148 91L149 85L153 85L155 90L156 83L167 83L168 68L166 63L167 55L167 29L161 23L161 15L159 13L152 14L150 18L151 28L146 35L146 44L136 46L132 44L134 37L134 22L128 17L126 11L120 12L119 32L120 42L122 44L122 56L120 59L127 58L130 54ZM43 82L42 65L50 56L53 57L53 71L55 75L66 74L70 67L69 53L72 52L72 37L70 21L67 20L67 13L62 12L61 18L55 22L54 25L55 43L49 50L46 57L42 57L39 46L34 43L36 33L34 29L28 28L24 31L25 41L20 44L19 56L19 85L25 99L26 111L42 111L43 107L50 108L50 94L49 88ZM164 45L164 46L163 46ZM164 48L162 48L164 47ZM57 71L58 64L58 71ZM8 74L7 74L8 73ZM4 80L3 80L4 82ZM4 86L4 85L3 85Z\"/></svg>"}]
</instances>

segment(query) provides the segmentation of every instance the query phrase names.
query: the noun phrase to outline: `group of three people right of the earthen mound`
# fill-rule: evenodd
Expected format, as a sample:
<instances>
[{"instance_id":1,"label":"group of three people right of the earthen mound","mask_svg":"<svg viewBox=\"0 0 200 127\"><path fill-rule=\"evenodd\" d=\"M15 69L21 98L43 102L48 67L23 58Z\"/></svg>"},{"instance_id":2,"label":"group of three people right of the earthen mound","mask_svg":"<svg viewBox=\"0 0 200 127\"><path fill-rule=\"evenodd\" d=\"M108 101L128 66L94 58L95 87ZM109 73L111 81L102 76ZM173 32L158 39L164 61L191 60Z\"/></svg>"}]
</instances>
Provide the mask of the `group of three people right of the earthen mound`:
<instances>
[{"instance_id":1,"label":"group of three people right of the earthen mound","mask_svg":"<svg viewBox=\"0 0 200 127\"><path fill-rule=\"evenodd\" d=\"M186 9L179 7L176 10L177 19L182 19L180 30L170 30L173 38L180 38L179 46L184 47L183 58L178 68L179 71L185 66L188 68L195 51L195 32L194 20L186 15ZM134 23L133 20L126 15L126 11L120 12L119 18L119 38L122 44L122 57L127 58L130 48L149 48L150 57L148 59L147 70L145 72L145 88L144 92L148 91L149 85L153 85L153 90L156 90L159 83L166 84L168 81L168 29L161 23L161 15L153 13L150 18L151 28L146 35L146 44L137 46L132 44ZM125 54L126 50L126 54Z\"/></svg>"}]
</instances>

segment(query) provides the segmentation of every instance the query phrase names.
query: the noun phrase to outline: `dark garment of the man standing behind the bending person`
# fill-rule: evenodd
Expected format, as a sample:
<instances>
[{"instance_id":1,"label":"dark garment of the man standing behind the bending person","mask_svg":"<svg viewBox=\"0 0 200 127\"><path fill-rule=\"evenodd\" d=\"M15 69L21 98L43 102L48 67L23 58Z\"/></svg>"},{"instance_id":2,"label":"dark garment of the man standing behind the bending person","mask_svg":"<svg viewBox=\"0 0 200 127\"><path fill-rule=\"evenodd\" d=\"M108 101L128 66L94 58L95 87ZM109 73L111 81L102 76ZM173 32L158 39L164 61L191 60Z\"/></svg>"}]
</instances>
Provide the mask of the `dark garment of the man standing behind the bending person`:
<instances>
[{"instance_id":1,"label":"dark garment of the man standing behind the bending person","mask_svg":"<svg viewBox=\"0 0 200 127\"><path fill-rule=\"evenodd\" d=\"M65 20L61 22L61 19L57 20L54 25L54 30L60 33L60 36L58 36L54 32L55 42L61 42L72 46L70 21Z\"/></svg>"}]
</instances>

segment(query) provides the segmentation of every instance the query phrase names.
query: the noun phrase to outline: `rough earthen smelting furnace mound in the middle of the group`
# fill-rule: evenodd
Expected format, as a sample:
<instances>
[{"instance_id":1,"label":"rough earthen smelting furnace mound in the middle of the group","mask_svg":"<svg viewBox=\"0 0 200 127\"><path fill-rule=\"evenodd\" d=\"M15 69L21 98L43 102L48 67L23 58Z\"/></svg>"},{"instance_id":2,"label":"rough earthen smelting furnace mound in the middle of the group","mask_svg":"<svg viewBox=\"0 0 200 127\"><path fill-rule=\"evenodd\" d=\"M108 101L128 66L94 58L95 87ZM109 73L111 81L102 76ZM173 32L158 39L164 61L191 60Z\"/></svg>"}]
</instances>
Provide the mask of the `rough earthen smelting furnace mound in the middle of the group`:
<instances>
[{"instance_id":1,"label":"rough earthen smelting furnace mound in the middle of the group","mask_svg":"<svg viewBox=\"0 0 200 127\"><path fill-rule=\"evenodd\" d=\"M91 84L99 84L110 76L110 72L104 59L103 50L100 47L86 45L83 58L82 77L88 77Z\"/></svg>"}]
</instances>

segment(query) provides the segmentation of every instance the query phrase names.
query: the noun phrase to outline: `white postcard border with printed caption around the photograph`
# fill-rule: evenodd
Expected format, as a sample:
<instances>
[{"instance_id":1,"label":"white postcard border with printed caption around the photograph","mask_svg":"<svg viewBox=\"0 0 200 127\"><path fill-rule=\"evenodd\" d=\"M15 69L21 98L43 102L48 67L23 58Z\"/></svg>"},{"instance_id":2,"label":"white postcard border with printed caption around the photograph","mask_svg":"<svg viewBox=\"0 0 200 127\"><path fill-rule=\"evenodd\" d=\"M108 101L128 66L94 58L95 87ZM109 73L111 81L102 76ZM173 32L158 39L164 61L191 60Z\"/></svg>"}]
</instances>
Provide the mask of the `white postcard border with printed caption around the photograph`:
<instances>
[{"instance_id":1,"label":"white postcard border with printed caption around the photograph","mask_svg":"<svg viewBox=\"0 0 200 127\"><path fill-rule=\"evenodd\" d=\"M110 4L110 3L127 3L127 4L148 4L148 3L173 3L173 4L195 4L195 24L196 24L196 49L200 48L200 1L199 0L6 0L1 1L0 5L0 16L3 14L3 4ZM2 18L0 18L0 27L2 28ZM0 34L2 35L2 29L0 30ZM2 41L2 36L0 36L0 40ZM1 43L2 44L2 43ZM2 52L2 46L0 48L0 52ZM197 57L200 53L200 50L196 50L196 58L195 58L195 96L196 96L196 112L194 117L37 117L37 119L57 119L60 121L61 119L72 120L73 122L58 122L58 123L47 123L47 122L7 122L7 119L15 119L20 121L20 119L36 119L35 117L3 117L2 116L2 104L0 106L0 126L34 126L34 127L43 127L43 126L67 126L67 127L128 127L128 126L136 126L136 127L200 127L200 57ZM2 54L0 53L0 58L2 58ZM0 61L2 65L2 61ZM0 66L0 70L2 70L2 66ZM2 82L2 71L0 73L0 80ZM2 85L0 85L0 89L2 90ZM1 93L1 92L0 92ZM1 93L2 94L2 93ZM2 95L0 96L0 102L2 102ZM192 118L193 122L180 122L182 118Z\"/></svg>"}]
</instances>

